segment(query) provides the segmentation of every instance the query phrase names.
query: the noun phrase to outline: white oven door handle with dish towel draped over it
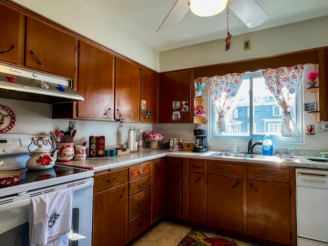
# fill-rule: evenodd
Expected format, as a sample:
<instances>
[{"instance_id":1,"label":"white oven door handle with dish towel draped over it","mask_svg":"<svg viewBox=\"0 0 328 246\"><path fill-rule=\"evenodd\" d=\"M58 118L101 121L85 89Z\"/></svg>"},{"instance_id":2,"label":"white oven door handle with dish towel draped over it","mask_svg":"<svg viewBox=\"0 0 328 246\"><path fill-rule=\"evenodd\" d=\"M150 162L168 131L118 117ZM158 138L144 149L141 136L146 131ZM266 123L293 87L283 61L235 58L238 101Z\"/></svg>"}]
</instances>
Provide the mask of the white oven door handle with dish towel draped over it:
<instances>
[{"instance_id":1,"label":"white oven door handle with dish towel draped over it","mask_svg":"<svg viewBox=\"0 0 328 246\"><path fill-rule=\"evenodd\" d=\"M58 185L58 186L60 186L60 185ZM89 186L93 186L93 178L90 178L89 180L85 180L83 183L79 183L77 181L74 183L68 183L66 186L62 185L61 187L63 189L73 188L73 192L75 192L75 191L79 191L81 189L87 188ZM40 194L40 195L42 195L42 194ZM28 206L32 203L32 200L31 200L29 194L27 194L27 195L23 194L22 196L23 196L22 200L9 201L8 203L0 204L0 212L14 209L14 208L23 207L23 206ZM26 196L26 197L24 198L24 196ZM15 197L17 197L17 196L15 196ZM8 200L9 200L9 198L8 198Z\"/></svg>"}]
</instances>

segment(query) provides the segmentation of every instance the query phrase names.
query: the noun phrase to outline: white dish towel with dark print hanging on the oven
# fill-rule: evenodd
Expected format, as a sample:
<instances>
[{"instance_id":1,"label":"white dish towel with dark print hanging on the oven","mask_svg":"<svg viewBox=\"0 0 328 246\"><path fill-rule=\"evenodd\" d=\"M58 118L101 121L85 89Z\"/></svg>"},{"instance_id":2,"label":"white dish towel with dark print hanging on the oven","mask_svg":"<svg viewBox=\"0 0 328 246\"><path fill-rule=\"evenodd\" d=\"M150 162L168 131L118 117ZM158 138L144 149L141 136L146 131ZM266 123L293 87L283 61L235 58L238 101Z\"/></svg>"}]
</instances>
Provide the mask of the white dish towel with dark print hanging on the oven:
<instances>
[{"instance_id":1,"label":"white dish towel with dark print hanging on the oven","mask_svg":"<svg viewBox=\"0 0 328 246\"><path fill-rule=\"evenodd\" d=\"M73 188L32 197L31 246L67 246L72 227Z\"/></svg>"}]
</instances>

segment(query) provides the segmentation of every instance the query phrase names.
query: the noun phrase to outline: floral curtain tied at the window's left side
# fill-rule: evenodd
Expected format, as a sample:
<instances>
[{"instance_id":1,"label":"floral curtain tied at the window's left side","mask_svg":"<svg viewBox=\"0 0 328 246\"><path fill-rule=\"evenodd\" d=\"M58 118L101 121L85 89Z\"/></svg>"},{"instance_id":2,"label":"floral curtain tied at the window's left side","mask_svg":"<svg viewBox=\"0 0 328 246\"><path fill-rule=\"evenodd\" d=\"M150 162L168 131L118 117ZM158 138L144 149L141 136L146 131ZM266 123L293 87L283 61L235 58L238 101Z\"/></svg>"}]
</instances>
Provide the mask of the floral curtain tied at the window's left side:
<instances>
[{"instance_id":1,"label":"floral curtain tied at the window's left side","mask_svg":"<svg viewBox=\"0 0 328 246\"><path fill-rule=\"evenodd\" d=\"M219 115L217 120L219 133L226 131L224 115L234 108L236 95L244 75L245 73L232 73L206 78L215 109Z\"/></svg>"}]
</instances>

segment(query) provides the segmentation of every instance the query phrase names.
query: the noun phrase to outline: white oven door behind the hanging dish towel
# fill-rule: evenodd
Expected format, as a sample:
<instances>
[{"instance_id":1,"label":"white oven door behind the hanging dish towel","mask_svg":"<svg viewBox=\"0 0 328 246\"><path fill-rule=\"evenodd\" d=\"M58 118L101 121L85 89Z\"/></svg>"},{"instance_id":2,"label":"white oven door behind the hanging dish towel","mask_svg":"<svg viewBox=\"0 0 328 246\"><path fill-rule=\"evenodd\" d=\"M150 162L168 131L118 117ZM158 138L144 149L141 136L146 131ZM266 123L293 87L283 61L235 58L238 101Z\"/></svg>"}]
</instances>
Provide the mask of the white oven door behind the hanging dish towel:
<instances>
[{"instance_id":1,"label":"white oven door behind the hanging dish towel","mask_svg":"<svg viewBox=\"0 0 328 246\"><path fill-rule=\"evenodd\" d=\"M56 186L56 190L72 187L73 216L72 232L69 233L70 246L90 246L92 234L93 178L77 180ZM0 198L0 244L6 246L29 246L31 233L33 194L43 194L51 188L40 189L17 196ZM18 195L19 196L19 195ZM16 201L15 201L16 199Z\"/></svg>"}]
</instances>

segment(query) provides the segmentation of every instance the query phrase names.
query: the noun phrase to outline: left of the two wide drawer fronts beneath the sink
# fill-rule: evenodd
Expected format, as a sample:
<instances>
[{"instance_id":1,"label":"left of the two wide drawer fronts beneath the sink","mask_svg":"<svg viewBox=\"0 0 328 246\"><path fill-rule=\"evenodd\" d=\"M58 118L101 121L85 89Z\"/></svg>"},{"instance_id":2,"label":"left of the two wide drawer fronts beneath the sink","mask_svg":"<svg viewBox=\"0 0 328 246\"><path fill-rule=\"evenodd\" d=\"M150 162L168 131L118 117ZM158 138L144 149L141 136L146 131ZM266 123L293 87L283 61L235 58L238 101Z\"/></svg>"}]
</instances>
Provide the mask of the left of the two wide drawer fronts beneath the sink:
<instances>
[{"instance_id":1,"label":"left of the two wide drawer fronts beneath the sink","mask_svg":"<svg viewBox=\"0 0 328 246\"><path fill-rule=\"evenodd\" d=\"M207 172L209 174L241 178L242 177L242 166L209 161Z\"/></svg>"}]
</instances>

